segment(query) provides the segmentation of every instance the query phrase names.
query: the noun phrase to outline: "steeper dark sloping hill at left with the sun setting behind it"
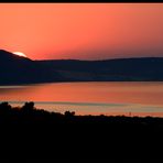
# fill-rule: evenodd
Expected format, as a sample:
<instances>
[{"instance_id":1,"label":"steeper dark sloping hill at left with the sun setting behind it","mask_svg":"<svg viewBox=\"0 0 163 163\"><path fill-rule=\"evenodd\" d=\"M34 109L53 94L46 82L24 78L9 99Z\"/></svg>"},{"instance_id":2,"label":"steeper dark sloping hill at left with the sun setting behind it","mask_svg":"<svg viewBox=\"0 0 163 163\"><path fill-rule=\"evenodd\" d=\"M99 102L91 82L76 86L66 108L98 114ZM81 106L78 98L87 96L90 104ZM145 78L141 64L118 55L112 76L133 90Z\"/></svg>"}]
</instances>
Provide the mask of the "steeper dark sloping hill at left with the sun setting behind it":
<instances>
[{"instance_id":1,"label":"steeper dark sloping hill at left with the sun setting behind it","mask_svg":"<svg viewBox=\"0 0 163 163\"><path fill-rule=\"evenodd\" d=\"M0 85L57 80L57 73L34 61L0 50Z\"/></svg>"}]
</instances>

